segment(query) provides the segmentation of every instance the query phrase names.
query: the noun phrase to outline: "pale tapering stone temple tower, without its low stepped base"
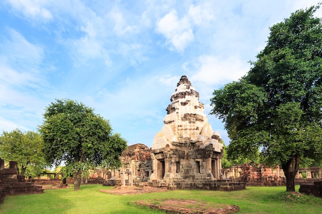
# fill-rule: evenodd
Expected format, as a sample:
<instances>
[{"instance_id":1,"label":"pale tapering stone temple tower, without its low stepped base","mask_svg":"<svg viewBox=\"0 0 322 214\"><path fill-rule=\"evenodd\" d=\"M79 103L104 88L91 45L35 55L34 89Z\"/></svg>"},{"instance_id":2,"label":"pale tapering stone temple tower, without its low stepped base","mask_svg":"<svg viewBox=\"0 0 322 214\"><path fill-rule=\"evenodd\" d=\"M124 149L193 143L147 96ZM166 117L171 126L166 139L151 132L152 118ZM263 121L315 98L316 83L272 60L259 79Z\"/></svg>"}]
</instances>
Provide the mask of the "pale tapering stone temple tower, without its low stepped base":
<instances>
[{"instance_id":1,"label":"pale tapering stone temple tower, without its low stepped base","mask_svg":"<svg viewBox=\"0 0 322 214\"><path fill-rule=\"evenodd\" d=\"M183 75L166 108L164 126L156 133L152 148L150 181L203 182L221 176L223 144L213 132L199 93Z\"/></svg>"}]
</instances>

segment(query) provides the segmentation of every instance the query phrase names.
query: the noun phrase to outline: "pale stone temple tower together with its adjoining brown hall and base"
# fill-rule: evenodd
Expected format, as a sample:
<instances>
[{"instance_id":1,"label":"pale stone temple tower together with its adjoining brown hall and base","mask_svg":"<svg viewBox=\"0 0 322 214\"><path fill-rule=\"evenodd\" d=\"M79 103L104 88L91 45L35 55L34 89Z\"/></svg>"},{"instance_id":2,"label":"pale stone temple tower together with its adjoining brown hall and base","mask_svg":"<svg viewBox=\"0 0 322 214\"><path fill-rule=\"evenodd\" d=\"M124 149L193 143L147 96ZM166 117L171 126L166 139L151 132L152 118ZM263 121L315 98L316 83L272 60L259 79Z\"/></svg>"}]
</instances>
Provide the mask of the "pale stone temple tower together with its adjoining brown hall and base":
<instances>
[{"instance_id":1,"label":"pale stone temple tower together with its adjoining brown hall and base","mask_svg":"<svg viewBox=\"0 0 322 214\"><path fill-rule=\"evenodd\" d=\"M230 182L221 173L223 144L213 132L199 93L183 75L166 108L164 126L156 133L151 149L129 146L122 155L123 167L110 170L105 185L122 184L168 189L245 189L244 182Z\"/></svg>"}]
</instances>

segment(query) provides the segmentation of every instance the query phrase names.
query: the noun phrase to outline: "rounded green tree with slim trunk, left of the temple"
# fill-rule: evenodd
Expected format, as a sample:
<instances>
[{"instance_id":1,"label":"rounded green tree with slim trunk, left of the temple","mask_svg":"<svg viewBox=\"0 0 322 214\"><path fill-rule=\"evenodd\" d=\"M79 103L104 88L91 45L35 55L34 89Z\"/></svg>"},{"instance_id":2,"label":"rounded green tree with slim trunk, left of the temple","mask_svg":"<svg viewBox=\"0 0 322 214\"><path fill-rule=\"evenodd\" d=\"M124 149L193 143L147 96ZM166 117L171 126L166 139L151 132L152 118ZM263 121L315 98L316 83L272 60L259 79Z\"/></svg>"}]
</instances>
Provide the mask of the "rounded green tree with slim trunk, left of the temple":
<instances>
[{"instance_id":1,"label":"rounded green tree with slim trunk, left of the temple","mask_svg":"<svg viewBox=\"0 0 322 214\"><path fill-rule=\"evenodd\" d=\"M119 167L127 142L112 133L109 121L77 101L56 100L45 110L39 127L46 160L58 166L64 162L73 171L74 190L79 190L82 173L96 166Z\"/></svg>"}]
</instances>

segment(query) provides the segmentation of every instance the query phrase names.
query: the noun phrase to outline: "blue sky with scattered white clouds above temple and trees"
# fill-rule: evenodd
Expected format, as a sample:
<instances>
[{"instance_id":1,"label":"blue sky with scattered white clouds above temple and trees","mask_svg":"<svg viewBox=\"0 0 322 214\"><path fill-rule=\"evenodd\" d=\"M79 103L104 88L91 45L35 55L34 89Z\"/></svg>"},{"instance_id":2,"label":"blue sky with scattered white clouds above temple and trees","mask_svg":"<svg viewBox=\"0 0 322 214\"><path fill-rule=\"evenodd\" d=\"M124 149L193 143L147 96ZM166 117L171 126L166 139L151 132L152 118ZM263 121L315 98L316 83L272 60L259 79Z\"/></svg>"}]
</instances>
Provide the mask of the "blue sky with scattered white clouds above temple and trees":
<instances>
[{"instance_id":1,"label":"blue sky with scattered white clouds above temple and trees","mask_svg":"<svg viewBox=\"0 0 322 214\"><path fill-rule=\"evenodd\" d=\"M208 114L213 90L249 70L269 27L318 2L3 0L0 130L37 131L66 98L151 147L183 74ZM227 145L221 121L208 121Z\"/></svg>"}]
</instances>

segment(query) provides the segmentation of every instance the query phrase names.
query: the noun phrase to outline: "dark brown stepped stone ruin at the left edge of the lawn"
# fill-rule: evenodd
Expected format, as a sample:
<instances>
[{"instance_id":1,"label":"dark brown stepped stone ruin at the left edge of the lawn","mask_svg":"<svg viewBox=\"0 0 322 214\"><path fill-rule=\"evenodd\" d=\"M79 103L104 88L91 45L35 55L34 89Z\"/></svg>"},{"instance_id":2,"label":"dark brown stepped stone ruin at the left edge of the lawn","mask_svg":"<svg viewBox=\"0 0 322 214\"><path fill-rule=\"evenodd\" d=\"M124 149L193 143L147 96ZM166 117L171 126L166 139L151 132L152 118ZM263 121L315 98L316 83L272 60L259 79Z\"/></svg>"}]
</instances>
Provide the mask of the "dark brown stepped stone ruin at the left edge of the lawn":
<instances>
[{"instance_id":1,"label":"dark brown stepped stone ruin at the left edge of the lawn","mask_svg":"<svg viewBox=\"0 0 322 214\"><path fill-rule=\"evenodd\" d=\"M4 202L6 195L16 196L21 194L43 193L42 186L36 186L32 182L26 182L24 176L17 175L17 163L9 162L9 168L5 168L5 162L0 158L0 203Z\"/></svg>"}]
</instances>

